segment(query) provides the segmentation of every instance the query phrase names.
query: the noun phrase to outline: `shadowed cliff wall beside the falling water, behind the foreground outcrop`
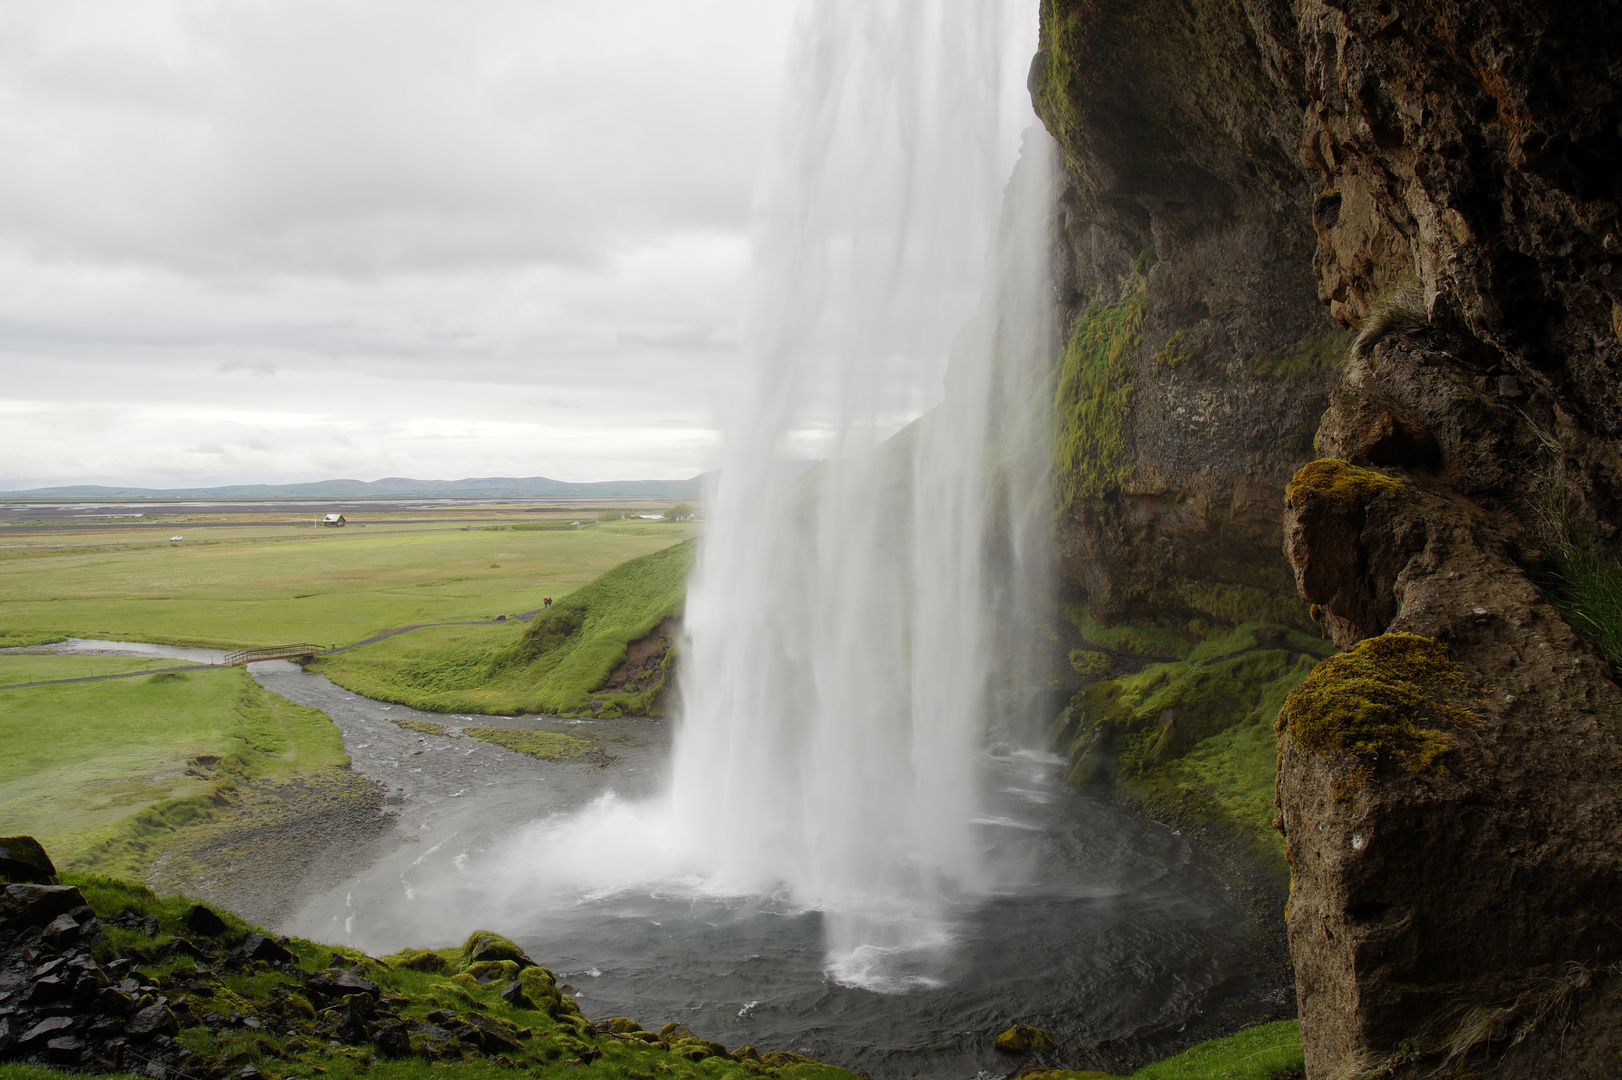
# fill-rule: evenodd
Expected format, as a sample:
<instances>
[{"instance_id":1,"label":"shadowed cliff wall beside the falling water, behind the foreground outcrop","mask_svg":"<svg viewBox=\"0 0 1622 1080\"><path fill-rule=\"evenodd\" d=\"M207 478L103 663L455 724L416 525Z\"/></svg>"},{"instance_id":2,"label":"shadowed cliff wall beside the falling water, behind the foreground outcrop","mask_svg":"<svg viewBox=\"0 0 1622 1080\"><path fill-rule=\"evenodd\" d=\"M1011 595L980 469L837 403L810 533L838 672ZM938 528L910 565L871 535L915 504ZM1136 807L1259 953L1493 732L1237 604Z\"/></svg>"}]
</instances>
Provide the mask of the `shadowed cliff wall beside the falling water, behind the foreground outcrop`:
<instances>
[{"instance_id":1,"label":"shadowed cliff wall beside the falling water, behind the foreground outcrop","mask_svg":"<svg viewBox=\"0 0 1622 1080\"><path fill-rule=\"evenodd\" d=\"M1283 485L1343 350L1311 272L1299 126L1242 19L1048 3L1030 84L1066 157L1064 569L1103 621L1306 624ZM1223 86L1254 88L1236 99Z\"/></svg>"}]
</instances>

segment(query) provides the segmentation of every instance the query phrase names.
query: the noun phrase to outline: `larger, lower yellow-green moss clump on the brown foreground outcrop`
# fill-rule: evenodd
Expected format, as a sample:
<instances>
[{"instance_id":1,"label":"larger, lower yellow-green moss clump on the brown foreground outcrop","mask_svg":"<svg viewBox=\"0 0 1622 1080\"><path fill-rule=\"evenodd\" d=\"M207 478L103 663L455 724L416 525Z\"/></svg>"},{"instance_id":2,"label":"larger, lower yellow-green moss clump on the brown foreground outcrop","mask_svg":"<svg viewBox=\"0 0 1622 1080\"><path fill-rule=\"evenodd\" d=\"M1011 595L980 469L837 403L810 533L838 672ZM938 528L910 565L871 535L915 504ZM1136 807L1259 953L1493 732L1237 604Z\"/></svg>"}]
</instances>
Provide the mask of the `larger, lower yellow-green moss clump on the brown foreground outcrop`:
<instances>
[{"instance_id":1,"label":"larger, lower yellow-green moss clump on the brown foreground outcrop","mask_svg":"<svg viewBox=\"0 0 1622 1080\"><path fill-rule=\"evenodd\" d=\"M1372 754L1435 772L1453 746L1448 728L1481 723L1460 704L1468 689L1442 642L1382 634L1320 663L1278 712L1278 730L1309 754Z\"/></svg>"}]
</instances>

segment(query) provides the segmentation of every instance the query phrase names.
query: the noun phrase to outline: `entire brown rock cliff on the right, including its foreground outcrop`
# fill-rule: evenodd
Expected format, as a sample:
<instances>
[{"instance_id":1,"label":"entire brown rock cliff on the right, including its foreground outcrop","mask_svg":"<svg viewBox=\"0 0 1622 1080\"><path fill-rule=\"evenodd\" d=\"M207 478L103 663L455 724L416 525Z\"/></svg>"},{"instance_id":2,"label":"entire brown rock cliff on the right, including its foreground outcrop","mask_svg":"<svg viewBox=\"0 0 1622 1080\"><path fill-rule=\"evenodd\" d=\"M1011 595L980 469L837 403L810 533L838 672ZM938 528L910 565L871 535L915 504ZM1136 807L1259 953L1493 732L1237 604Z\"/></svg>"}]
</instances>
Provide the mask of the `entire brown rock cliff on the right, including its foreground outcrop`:
<instances>
[{"instance_id":1,"label":"entire brown rock cliff on the right, including its foreground outcrop","mask_svg":"<svg viewBox=\"0 0 1622 1080\"><path fill-rule=\"evenodd\" d=\"M1560 574L1622 525L1619 45L1614 5L1043 5L1062 569L1169 624L1288 623L1288 568L1345 650L1280 714L1309 1077L1617 1075L1622 692Z\"/></svg>"}]
</instances>

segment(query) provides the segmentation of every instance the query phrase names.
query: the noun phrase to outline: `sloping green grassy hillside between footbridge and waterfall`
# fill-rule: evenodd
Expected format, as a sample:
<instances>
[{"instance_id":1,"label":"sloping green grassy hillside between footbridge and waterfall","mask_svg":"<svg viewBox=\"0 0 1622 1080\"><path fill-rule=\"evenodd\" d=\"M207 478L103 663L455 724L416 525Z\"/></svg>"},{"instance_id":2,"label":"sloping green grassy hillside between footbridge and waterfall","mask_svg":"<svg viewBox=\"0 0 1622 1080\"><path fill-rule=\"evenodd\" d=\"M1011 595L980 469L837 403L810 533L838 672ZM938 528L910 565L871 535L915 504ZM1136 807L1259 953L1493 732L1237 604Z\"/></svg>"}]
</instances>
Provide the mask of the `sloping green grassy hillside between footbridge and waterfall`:
<instances>
[{"instance_id":1,"label":"sloping green grassy hillside between footbridge and waterfall","mask_svg":"<svg viewBox=\"0 0 1622 1080\"><path fill-rule=\"evenodd\" d=\"M626 645L681 611L693 553L689 540L621 563L522 629L417 631L321 657L315 670L357 694L430 712L657 712L668 652L634 691L594 691L624 660Z\"/></svg>"}]
</instances>

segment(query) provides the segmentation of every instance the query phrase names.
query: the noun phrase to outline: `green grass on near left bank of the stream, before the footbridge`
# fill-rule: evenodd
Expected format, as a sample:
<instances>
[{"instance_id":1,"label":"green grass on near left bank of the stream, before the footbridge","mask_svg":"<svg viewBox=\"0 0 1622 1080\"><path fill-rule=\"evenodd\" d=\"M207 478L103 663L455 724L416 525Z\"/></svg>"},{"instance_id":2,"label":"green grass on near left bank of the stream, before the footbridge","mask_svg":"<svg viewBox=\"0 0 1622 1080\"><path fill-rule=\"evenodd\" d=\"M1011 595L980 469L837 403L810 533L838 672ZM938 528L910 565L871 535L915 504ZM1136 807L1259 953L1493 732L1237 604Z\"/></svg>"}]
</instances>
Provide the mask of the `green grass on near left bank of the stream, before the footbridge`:
<instances>
[{"instance_id":1,"label":"green grass on near left bank of the stream, before the footbridge","mask_svg":"<svg viewBox=\"0 0 1622 1080\"><path fill-rule=\"evenodd\" d=\"M118 657L0 657L75 678ZM133 872L238 782L347 764L333 722L242 668L0 691L0 821L63 866Z\"/></svg>"}]
</instances>

